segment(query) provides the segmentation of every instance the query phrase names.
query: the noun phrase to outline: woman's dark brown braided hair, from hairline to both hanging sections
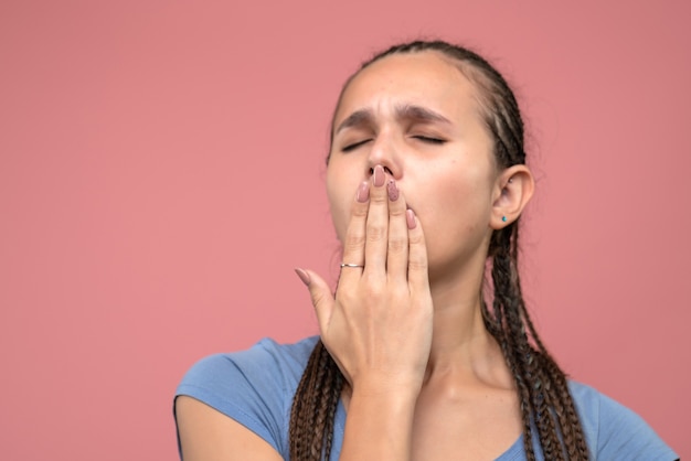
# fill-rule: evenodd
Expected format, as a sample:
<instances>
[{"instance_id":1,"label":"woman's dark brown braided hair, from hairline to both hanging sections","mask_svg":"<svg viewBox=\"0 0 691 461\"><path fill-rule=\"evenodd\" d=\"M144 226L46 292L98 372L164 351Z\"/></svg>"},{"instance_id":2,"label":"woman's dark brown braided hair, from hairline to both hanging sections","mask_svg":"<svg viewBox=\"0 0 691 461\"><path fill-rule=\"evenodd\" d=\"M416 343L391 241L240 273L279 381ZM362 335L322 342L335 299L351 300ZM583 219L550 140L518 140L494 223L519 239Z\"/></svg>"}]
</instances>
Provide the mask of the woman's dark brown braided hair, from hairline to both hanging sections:
<instances>
[{"instance_id":1,"label":"woman's dark brown braided hair, from hairline to both hanging sections","mask_svg":"<svg viewBox=\"0 0 691 461\"><path fill-rule=\"evenodd\" d=\"M365 62L362 68L392 54L437 52L456 64L477 89L480 115L493 140L497 165L525 163L523 121L504 78L478 54L442 41L395 45ZM355 73L343 86L341 96ZM485 326L501 346L515 383L528 460L535 460L533 433L545 460L588 460L583 428L568 392L566 376L540 340L521 293L518 271L518 221L491 236L491 308L482 302ZM318 341L293 400L290 459L329 458L333 418L343 376Z\"/></svg>"}]
</instances>

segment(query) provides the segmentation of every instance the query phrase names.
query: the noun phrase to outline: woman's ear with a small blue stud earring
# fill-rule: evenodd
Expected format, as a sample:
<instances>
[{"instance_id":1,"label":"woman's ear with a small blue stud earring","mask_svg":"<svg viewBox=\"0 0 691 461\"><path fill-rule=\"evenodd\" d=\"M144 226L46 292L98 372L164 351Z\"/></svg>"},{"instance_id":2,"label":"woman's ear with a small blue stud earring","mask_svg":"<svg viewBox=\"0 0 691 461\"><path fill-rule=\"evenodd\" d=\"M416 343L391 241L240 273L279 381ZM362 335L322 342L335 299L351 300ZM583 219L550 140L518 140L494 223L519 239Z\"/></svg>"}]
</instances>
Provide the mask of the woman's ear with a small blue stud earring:
<instances>
[{"instance_id":1,"label":"woman's ear with a small blue stud earring","mask_svg":"<svg viewBox=\"0 0 691 461\"><path fill-rule=\"evenodd\" d=\"M518 219L534 190L535 180L524 164L503 170L495 184L490 227L501 229Z\"/></svg>"}]
</instances>

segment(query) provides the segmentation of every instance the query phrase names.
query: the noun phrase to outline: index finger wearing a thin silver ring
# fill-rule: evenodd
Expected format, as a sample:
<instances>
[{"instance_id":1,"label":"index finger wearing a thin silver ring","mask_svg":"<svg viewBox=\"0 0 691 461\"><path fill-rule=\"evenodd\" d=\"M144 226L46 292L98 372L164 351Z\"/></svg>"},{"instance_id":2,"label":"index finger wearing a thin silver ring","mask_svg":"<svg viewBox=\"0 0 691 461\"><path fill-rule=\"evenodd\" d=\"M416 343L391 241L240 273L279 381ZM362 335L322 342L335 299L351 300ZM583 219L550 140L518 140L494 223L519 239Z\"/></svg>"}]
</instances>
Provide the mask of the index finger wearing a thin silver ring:
<instances>
[{"instance_id":1,"label":"index finger wearing a thin silver ring","mask_svg":"<svg viewBox=\"0 0 691 461\"><path fill-rule=\"evenodd\" d=\"M343 240L343 260L349 265L364 266L365 225L370 207L370 184L365 181L358 187L354 203L350 212L350 222ZM357 267L342 268L339 286L354 278L360 278L362 269Z\"/></svg>"}]
</instances>

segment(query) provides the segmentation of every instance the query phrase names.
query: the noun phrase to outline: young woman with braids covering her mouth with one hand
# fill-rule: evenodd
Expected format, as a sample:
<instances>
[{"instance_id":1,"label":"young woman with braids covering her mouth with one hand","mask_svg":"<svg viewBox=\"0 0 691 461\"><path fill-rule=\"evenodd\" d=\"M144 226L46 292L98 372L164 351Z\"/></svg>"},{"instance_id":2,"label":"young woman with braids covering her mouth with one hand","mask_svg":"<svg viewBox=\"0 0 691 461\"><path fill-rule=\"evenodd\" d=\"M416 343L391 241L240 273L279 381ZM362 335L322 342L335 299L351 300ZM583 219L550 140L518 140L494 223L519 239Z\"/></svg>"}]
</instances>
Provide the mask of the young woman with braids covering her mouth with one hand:
<instances>
[{"instance_id":1,"label":"young woman with braids covering her mouth with one hand","mask_svg":"<svg viewBox=\"0 0 691 461\"><path fill-rule=\"evenodd\" d=\"M677 459L540 341L517 260L533 189L517 101L483 58L414 42L365 63L328 157L336 293L297 269L320 335L198 363L176 400L184 461Z\"/></svg>"}]
</instances>

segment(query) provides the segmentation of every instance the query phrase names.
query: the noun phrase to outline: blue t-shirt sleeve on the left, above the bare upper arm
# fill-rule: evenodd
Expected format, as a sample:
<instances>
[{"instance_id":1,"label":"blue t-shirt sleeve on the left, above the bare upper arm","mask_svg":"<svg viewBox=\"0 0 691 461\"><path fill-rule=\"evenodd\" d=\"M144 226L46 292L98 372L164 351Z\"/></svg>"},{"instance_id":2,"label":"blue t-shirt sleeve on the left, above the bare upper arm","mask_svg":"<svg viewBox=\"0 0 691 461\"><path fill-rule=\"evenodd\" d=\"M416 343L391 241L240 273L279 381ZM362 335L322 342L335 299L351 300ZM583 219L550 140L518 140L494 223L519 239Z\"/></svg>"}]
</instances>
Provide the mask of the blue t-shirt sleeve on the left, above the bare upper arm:
<instances>
[{"instance_id":1,"label":"blue t-shirt sleeve on the left, above the bare upper arm","mask_svg":"<svg viewBox=\"0 0 691 461\"><path fill-rule=\"evenodd\" d=\"M293 395L305 365L305 352L296 355L296 346L306 349L305 344L285 347L262 340L246 351L202 358L184 375L176 397L203 401L285 457Z\"/></svg>"}]
</instances>

